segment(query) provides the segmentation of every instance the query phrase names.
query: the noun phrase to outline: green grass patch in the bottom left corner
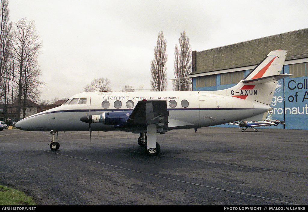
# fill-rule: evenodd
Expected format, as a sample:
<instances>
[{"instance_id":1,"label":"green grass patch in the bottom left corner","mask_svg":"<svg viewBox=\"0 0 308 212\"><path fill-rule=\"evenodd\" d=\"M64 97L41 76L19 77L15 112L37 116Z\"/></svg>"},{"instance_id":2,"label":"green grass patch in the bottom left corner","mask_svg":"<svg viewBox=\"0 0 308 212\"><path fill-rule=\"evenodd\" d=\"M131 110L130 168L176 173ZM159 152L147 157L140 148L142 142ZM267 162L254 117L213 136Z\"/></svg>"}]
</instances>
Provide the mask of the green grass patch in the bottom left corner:
<instances>
[{"instance_id":1,"label":"green grass patch in the bottom left corner","mask_svg":"<svg viewBox=\"0 0 308 212\"><path fill-rule=\"evenodd\" d=\"M32 197L22 191L0 185L0 205L36 205Z\"/></svg>"}]
</instances>

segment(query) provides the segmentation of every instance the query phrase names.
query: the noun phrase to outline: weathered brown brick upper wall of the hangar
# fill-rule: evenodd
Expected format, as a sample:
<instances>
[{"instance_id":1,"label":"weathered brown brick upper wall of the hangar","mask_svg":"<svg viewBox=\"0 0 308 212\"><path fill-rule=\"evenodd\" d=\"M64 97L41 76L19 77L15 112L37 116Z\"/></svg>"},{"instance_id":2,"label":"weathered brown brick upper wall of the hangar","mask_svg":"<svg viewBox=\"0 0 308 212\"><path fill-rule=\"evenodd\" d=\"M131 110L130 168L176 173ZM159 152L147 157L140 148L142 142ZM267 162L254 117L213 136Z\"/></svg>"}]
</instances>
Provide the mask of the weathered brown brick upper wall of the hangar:
<instances>
[{"instance_id":1,"label":"weathered brown brick upper wall of the hangar","mask_svg":"<svg viewBox=\"0 0 308 212\"><path fill-rule=\"evenodd\" d=\"M287 50L287 58L308 58L308 28L195 52L193 74L257 65L273 50Z\"/></svg>"}]
</instances>

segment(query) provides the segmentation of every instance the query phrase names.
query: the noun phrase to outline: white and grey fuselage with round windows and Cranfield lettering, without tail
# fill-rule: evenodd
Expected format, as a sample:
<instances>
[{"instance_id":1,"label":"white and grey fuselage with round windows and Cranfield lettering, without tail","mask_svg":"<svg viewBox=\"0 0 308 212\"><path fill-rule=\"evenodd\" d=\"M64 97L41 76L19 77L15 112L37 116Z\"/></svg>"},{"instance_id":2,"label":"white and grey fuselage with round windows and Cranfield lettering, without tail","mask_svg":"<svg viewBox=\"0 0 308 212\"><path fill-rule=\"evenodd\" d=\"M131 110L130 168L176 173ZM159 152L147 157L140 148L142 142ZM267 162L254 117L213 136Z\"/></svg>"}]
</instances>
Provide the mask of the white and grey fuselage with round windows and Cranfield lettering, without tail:
<instances>
[{"instance_id":1,"label":"white and grey fuselage with round windows and Cranfield lettering, without tail","mask_svg":"<svg viewBox=\"0 0 308 212\"><path fill-rule=\"evenodd\" d=\"M86 113L132 111L144 99L167 101L168 130L224 124L271 109L266 104L212 92L84 92L72 96L66 104L24 118L16 127L28 131L88 131L88 124L80 121ZM102 123L91 124L91 130L125 131ZM134 129L130 132L139 133Z\"/></svg>"}]
</instances>

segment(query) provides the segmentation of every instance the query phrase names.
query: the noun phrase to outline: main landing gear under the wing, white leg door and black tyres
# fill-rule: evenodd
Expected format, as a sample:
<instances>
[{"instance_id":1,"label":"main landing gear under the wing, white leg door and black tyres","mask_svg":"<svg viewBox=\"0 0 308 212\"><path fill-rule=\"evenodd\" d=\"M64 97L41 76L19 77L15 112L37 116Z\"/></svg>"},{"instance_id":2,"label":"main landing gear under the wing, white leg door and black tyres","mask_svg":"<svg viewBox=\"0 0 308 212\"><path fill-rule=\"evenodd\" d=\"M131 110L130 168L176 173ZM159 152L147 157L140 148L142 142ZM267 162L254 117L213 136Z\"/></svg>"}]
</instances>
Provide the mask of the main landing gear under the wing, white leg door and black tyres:
<instances>
[{"instance_id":1,"label":"main landing gear under the wing, white leg door and black tyres","mask_svg":"<svg viewBox=\"0 0 308 212\"><path fill-rule=\"evenodd\" d=\"M148 133L148 136L146 135ZM145 152L149 156L156 156L160 153L160 145L156 142L156 125L149 124L147 133L140 133L138 144L145 146ZM149 139L148 139L149 137Z\"/></svg>"}]
</instances>

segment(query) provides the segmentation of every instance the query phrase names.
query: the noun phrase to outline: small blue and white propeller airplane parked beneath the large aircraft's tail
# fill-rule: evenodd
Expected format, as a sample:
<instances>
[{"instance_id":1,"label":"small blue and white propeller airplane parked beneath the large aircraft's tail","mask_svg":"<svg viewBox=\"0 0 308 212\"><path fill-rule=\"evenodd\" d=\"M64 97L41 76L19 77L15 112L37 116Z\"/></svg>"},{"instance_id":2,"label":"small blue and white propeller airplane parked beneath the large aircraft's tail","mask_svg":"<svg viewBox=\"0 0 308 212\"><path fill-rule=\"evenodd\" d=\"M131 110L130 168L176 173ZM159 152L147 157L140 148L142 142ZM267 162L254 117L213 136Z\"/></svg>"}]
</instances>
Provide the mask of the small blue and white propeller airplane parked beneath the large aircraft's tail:
<instances>
[{"instance_id":1,"label":"small blue and white propeller airplane parked beneath the large aircraft's tail","mask_svg":"<svg viewBox=\"0 0 308 212\"><path fill-rule=\"evenodd\" d=\"M261 126L277 126L278 124L285 124L284 121L272 120L272 115L269 115L266 120L263 121L240 121L240 122L229 122L228 124L237 125L242 128L242 132L245 132L247 128L253 128L254 131L258 132L255 127Z\"/></svg>"}]
</instances>

